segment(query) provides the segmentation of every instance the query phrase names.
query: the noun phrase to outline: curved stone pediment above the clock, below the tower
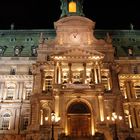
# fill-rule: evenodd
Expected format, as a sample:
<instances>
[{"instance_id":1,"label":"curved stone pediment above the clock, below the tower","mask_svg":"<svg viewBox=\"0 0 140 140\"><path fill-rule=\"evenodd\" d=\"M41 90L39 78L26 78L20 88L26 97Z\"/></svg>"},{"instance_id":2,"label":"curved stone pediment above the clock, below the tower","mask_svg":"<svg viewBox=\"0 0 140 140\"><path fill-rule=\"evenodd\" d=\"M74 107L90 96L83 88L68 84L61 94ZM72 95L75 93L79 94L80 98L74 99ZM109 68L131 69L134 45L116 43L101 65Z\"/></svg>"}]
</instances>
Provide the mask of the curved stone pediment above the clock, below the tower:
<instances>
[{"instance_id":1,"label":"curved stone pediment above the clock, below the tower","mask_svg":"<svg viewBox=\"0 0 140 140\"><path fill-rule=\"evenodd\" d=\"M92 20L81 17L81 16L69 16L65 18L61 18L57 22L54 23L54 26L93 26L95 27L95 22Z\"/></svg>"}]
</instances>

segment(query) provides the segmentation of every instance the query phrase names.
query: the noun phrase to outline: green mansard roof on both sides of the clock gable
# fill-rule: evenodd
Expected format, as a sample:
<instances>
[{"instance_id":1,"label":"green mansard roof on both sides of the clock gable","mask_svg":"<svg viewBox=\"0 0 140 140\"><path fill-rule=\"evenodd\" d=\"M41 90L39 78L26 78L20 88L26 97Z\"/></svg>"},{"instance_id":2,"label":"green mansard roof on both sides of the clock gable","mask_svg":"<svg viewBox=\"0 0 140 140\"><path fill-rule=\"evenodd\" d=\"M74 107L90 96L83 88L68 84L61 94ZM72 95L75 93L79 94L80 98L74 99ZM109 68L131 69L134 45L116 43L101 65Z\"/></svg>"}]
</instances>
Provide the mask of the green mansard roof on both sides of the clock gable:
<instances>
[{"instance_id":1,"label":"green mansard roof on both sides of the clock gable","mask_svg":"<svg viewBox=\"0 0 140 140\"><path fill-rule=\"evenodd\" d=\"M107 32L112 37L116 57L128 57L128 48L133 49L134 57L140 57L140 30L95 30L94 35L97 39L104 39ZM20 55L16 57L32 57L31 48L38 47L41 33L46 41L56 36L53 29L0 30L0 56L13 57L14 48L22 46Z\"/></svg>"}]
</instances>

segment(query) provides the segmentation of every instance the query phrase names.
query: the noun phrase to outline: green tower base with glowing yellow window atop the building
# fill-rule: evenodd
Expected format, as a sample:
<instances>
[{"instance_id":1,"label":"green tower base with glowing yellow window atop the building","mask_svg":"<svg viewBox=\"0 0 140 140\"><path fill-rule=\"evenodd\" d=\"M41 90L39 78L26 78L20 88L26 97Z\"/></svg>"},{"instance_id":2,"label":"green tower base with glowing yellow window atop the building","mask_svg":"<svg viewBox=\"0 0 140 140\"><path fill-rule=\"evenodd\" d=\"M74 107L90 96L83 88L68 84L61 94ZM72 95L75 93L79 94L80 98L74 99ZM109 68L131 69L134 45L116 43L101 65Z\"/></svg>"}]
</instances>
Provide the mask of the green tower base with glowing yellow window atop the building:
<instances>
[{"instance_id":1,"label":"green tower base with glowing yellow window atop the building","mask_svg":"<svg viewBox=\"0 0 140 140\"><path fill-rule=\"evenodd\" d=\"M83 0L60 0L61 1L61 17L66 16L84 16Z\"/></svg>"}]
</instances>

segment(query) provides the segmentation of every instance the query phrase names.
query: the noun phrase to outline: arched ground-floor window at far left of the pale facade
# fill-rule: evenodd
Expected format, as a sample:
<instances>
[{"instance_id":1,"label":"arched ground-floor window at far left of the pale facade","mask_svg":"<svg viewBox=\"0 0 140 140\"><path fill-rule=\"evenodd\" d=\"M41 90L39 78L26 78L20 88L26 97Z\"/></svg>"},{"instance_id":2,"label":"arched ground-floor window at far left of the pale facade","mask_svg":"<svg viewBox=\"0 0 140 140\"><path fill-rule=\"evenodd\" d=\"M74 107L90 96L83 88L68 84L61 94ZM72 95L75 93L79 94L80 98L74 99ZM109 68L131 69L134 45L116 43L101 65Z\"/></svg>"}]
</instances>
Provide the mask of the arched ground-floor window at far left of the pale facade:
<instances>
[{"instance_id":1,"label":"arched ground-floor window at far left of the pale facade","mask_svg":"<svg viewBox=\"0 0 140 140\"><path fill-rule=\"evenodd\" d=\"M5 113L1 116L1 130L8 130L10 129L10 117L11 115L9 113Z\"/></svg>"}]
</instances>

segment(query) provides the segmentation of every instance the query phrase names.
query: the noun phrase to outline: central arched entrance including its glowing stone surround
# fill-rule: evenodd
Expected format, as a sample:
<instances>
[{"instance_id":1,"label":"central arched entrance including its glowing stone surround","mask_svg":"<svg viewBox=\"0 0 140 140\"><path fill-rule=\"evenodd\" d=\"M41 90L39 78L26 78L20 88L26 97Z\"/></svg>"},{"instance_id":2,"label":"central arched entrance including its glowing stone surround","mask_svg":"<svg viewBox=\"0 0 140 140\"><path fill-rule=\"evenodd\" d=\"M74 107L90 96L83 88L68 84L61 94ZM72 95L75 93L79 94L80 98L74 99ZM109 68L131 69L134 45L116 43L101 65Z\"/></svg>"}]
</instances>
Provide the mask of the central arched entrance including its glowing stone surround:
<instances>
[{"instance_id":1,"label":"central arched entrance including its glowing stone surround","mask_svg":"<svg viewBox=\"0 0 140 140\"><path fill-rule=\"evenodd\" d=\"M73 99L68 102L66 109L66 135L88 137L93 134L93 109L89 101L82 98Z\"/></svg>"}]
</instances>

